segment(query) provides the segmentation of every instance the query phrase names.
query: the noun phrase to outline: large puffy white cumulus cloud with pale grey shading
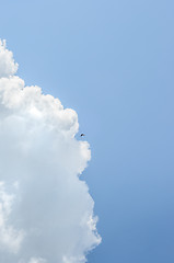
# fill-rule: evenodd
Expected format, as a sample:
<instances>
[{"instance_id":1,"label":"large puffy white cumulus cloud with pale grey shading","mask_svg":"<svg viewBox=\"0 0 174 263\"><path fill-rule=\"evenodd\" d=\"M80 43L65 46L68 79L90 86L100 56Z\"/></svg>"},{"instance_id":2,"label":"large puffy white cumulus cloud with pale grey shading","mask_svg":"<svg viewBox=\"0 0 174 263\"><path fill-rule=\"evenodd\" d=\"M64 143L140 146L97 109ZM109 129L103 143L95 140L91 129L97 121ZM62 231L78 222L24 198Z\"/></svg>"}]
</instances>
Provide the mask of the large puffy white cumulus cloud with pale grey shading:
<instances>
[{"instance_id":1,"label":"large puffy white cumulus cloud with pale grey shading","mask_svg":"<svg viewBox=\"0 0 174 263\"><path fill-rule=\"evenodd\" d=\"M79 179L91 158L78 115L15 76L0 42L0 259L84 263L101 242L94 202Z\"/></svg>"}]
</instances>

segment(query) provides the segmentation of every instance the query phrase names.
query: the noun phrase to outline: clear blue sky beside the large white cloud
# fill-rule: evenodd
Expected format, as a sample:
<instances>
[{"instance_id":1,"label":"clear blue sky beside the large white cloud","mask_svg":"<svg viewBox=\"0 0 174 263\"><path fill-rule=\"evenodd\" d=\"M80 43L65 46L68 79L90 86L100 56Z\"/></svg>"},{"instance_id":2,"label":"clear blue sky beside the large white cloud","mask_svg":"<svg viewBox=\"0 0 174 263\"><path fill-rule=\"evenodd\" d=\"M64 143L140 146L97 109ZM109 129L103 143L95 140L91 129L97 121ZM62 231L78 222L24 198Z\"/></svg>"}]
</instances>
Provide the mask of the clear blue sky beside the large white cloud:
<instances>
[{"instance_id":1,"label":"clear blue sky beside the large white cloud","mask_svg":"<svg viewBox=\"0 0 174 263\"><path fill-rule=\"evenodd\" d=\"M9 1L19 76L78 112L102 244L90 263L174 261L173 1Z\"/></svg>"}]
</instances>

